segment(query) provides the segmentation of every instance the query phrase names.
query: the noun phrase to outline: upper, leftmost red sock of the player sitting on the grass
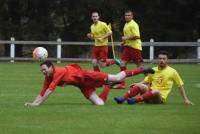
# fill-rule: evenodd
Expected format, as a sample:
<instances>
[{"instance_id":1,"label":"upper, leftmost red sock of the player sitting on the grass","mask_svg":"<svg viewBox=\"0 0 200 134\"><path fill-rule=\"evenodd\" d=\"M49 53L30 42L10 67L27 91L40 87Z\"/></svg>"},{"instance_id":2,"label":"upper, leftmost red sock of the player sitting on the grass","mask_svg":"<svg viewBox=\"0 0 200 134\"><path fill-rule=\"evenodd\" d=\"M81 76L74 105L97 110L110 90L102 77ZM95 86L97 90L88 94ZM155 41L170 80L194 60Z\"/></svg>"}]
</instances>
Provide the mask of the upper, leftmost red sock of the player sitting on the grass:
<instances>
[{"instance_id":1,"label":"upper, leftmost red sock of the player sitting on the grass","mask_svg":"<svg viewBox=\"0 0 200 134\"><path fill-rule=\"evenodd\" d=\"M125 100L127 100L129 97L134 97L139 93L141 93L141 89L138 86L133 86L128 92L123 95L123 97Z\"/></svg>"}]
</instances>

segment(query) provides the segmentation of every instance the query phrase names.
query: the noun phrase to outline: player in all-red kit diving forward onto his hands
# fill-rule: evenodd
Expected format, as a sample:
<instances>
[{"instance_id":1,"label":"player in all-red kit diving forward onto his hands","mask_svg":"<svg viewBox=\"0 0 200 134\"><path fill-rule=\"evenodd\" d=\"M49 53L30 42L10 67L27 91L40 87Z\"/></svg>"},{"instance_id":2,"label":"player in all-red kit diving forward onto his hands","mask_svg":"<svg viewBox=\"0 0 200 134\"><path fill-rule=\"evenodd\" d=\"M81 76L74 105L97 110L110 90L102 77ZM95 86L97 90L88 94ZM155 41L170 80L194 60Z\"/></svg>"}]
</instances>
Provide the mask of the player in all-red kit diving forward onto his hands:
<instances>
[{"instance_id":1,"label":"player in all-red kit diving forward onto his hands","mask_svg":"<svg viewBox=\"0 0 200 134\"><path fill-rule=\"evenodd\" d=\"M45 75L43 89L33 102L25 103L26 106L39 106L55 90L56 86L64 85L74 85L80 88L83 95L93 104L104 105L110 88L104 88L99 96L95 93L95 88L106 85L109 82L119 82L126 77L136 74L154 73L153 69L143 67L122 71L116 75L112 75L82 69L78 64L54 67L51 61L44 61L40 64L40 68L41 72Z\"/></svg>"}]
</instances>

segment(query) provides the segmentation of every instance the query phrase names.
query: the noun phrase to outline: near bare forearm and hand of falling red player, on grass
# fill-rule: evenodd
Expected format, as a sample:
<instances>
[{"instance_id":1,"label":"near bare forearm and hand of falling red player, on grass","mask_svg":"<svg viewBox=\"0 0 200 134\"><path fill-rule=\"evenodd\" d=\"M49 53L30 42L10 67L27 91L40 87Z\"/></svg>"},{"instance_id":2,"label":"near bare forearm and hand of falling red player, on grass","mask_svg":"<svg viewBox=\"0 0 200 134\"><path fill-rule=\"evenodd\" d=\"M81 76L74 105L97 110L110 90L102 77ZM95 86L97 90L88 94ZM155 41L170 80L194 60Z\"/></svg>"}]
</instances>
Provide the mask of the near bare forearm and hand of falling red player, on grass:
<instances>
[{"instance_id":1,"label":"near bare forearm and hand of falling red player, on grass","mask_svg":"<svg viewBox=\"0 0 200 134\"><path fill-rule=\"evenodd\" d=\"M52 91L50 89L47 89L43 96L38 95L33 102L26 102L24 105L32 107L40 106L51 93Z\"/></svg>"}]
</instances>

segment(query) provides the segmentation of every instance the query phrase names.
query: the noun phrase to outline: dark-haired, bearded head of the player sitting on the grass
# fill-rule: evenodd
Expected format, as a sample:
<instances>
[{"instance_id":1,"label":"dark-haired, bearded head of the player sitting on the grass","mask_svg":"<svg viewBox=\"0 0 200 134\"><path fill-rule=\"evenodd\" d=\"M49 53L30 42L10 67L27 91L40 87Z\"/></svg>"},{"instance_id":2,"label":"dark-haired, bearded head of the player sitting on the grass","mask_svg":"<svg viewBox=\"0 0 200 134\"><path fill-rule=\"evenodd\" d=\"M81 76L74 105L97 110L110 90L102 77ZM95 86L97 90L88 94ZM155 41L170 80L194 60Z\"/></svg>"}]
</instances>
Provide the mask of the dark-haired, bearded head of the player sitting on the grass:
<instances>
[{"instance_id":1,"label":"dark-haired, bearded head of the player sitting on the grass","mask_svg":"<svg viewBox=\"0 0 200 134\"><path fill-rule=\"evenodd\" d=\"M159 51L158 53L158 65L161 68L164 68L168 63L168 52L167 51Z\"/></svg>"}]
</instances>

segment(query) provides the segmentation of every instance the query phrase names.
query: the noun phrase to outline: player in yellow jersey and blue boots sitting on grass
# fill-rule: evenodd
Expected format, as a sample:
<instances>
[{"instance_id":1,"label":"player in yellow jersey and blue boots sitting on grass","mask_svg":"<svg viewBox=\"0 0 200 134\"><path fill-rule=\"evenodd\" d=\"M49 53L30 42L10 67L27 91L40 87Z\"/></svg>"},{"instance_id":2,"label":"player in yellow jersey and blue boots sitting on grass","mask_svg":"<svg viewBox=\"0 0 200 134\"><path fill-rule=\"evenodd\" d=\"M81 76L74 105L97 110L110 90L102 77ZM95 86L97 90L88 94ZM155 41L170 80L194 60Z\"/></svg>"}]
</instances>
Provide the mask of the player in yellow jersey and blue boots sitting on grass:
<instances>
[{"instance_id":1,"label":"player in yellow jersey and blue boots sitting on grass","mask_svg":"<svg viewBox=\"0 0 200 134\"><path fill-rule=\"evenodd\" d=\"M158 61L158 66L153 68L155 71L154 74L149 74L145 77L144 81L132 85L123 97L115 97L114 100L118 104L123 103L125 100L127 100L128 104L135 104L142 101L156 104L165 103L167 96L171 92L173 82L175 82L180 90L184 103L186 105L192 105L192 102L186 95L183 86L184 83L178 72L167 64L168 53L160 51Z\"/></svg>"}]
</instances>

